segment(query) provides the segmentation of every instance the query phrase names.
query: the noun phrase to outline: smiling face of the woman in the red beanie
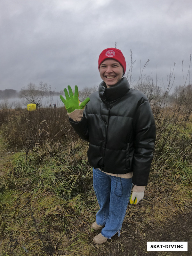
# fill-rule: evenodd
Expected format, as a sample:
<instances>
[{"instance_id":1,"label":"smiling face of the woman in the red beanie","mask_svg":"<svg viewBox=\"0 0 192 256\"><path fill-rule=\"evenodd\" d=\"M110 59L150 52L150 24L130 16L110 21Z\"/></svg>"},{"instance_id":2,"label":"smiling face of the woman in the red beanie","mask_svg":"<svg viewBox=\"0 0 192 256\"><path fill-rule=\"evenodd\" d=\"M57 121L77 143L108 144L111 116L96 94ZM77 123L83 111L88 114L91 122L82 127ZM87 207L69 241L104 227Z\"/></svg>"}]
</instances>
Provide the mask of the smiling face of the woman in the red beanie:
<instances>
[{"instance_id":1,"label":"smiling face of the woman in the red beanie","mask_svg":"<svg viewBox=\"0 0 192 256\"><path fill-rule=\"evenodd\" d=\"M123 77L123 68L120 63L114 59L104 60L99 68L100 77L106 83L107 87L112 87Z\"/></svg>"}]
</instances>

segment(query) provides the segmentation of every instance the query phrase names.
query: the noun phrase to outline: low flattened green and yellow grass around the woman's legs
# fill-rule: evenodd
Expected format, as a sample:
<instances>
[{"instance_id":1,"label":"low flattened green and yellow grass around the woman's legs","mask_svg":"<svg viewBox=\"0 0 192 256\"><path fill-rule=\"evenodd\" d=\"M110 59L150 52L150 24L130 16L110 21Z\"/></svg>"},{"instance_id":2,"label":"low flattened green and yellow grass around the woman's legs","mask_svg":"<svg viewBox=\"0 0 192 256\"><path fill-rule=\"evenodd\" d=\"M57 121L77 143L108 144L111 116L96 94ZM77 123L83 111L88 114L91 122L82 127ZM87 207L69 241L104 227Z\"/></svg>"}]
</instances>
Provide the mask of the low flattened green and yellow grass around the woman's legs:
<instances>
[{"instance_id":1,"label":"low flattened green and yellow grass around the woman's legs","mask_svg":"<svg viewBox=\"0 0 192 256\"><path fill-rule=\"evenodd\" d=\"M25 255L23 247L29 255L109 255L114 248L123 253L124 239L145 239L148 228L166 228L178 215L191 212L191 165L175 163L171 170L155 166L145 198L128 206L121 237L95 246L97 233L90 224L99 206L86 150L87 144L78 141L61 144L60 154L55 147L44 156L40 148L31 150L27 160L25 153L15 154L1 177L1 255Z\"/></svg>"}]
</instances>

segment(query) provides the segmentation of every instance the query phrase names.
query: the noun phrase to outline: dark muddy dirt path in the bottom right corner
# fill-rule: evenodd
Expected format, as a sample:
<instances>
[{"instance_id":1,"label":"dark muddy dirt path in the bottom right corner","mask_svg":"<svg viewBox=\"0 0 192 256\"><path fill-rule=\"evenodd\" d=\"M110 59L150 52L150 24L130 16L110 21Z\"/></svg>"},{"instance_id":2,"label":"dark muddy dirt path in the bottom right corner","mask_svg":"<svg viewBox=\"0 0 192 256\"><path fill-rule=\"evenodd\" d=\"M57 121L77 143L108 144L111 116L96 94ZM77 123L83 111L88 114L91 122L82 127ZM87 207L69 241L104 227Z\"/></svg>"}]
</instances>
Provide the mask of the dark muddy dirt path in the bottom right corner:
<instances>
[{"instance_id":1,"label":"dark muddy dirt path in the bottom right corner","mask_svg":"<svg viewBox=\"0 0 192 256\"><path fill-rule=\"evenodd\" d=\"M100 256L192 256L192 211L181 214L174 222L166 227L146 227L136 231L137 223L125 223L122 229L126 230L117 238L117 235L106 244L105 251L98 246ZM147 251L148 241L188 242L188 251Z\"/></svg>"}]
</instances>

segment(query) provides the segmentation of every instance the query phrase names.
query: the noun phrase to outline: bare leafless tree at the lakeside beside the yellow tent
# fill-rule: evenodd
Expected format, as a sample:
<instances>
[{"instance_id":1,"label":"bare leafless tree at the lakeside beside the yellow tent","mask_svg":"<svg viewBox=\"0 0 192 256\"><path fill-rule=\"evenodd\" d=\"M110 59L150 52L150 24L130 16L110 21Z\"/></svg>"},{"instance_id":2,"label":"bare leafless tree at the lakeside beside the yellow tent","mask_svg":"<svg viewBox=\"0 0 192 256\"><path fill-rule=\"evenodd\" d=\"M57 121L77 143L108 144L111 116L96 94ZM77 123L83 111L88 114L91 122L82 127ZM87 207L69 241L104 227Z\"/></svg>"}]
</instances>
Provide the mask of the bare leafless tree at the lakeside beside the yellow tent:
<instances>
[{"instance_id":1,"label":"bare leafless tree at the lakeside beside the yellow tent","mask_svg":"<svg viewBox=\"0 0 192 256\"><path fill-rule=\"evenodd\" d=\"M29 83L27 88L23 87L20 91L20 98L25 104L34 103L36 108L41 105L42 99L47 93L47 83L39 82L39 85Z\"/></svg>"}]
</instances>

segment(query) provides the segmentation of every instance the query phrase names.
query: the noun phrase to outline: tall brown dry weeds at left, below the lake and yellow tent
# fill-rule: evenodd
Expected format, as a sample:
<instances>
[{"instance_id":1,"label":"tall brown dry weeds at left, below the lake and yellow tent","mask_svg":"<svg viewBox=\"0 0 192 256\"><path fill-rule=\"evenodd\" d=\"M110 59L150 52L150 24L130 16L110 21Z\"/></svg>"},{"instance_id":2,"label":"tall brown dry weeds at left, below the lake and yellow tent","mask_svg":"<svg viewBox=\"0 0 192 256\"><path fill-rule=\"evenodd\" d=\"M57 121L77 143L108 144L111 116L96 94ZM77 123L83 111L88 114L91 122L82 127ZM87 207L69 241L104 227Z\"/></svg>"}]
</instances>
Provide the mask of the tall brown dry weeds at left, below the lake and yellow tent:
<instances>
[{"instance_id":1,"label":"tall brown dry weeds at left, below the lake and yellow tent","mask_svg":"<svg viewBox=\"0 0 192 256\"><path fill-rule=\"evenodd\" d=\"M5 145L15 150L29 150L45 142L76 141L78 136L68 122L67 111L62 108L40 108L37 111L4 111L2 134ZM1 122L1 120L0 120Z\"/></svg>"}]
</instances>

